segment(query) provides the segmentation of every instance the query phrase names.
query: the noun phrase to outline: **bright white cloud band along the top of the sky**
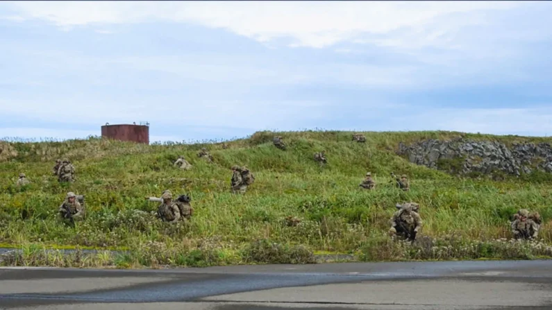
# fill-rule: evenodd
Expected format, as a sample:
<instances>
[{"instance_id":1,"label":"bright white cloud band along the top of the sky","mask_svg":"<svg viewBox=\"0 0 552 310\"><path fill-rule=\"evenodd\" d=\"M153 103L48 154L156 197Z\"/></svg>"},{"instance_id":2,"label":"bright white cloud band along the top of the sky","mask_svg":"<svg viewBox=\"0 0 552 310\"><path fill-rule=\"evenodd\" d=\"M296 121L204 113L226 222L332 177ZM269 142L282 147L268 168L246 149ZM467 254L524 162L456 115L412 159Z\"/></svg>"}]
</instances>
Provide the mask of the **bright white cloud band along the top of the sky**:
<instances>
[{"instance_id":1,"label":"bright white cloud band along the top of the sky","mask_svg":"<svg viewBox=\"0 0 552 310\"><path fill-rule=\"evenodd\" d=\"M369 40L375 44L406 46L438 44L446 33L466 25L483 24L471 13L517 8L513 1L183 1L183 2L10 2L26 19L45 19L60 27L88 24L128 24L142 21L175 21L212 28L268 42L292 37L293 46L325 47L355 40L362 33L390 34L412 28L410 37ZM455 19L450 15L465 14ZM439 20L439 24L432 25ZM413 35L413 36L412 36Z\"/></svg>"}]
</instances>

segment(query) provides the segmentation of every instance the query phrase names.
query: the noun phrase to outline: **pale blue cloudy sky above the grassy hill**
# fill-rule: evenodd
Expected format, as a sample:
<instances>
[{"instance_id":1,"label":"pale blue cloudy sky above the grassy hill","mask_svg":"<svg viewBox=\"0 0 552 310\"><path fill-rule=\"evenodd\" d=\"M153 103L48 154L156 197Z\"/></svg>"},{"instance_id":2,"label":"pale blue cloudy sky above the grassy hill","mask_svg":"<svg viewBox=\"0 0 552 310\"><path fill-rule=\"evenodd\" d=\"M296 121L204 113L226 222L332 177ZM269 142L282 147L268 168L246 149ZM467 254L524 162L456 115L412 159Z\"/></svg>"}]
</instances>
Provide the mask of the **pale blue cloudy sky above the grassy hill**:
<instances>
[{"instance_id":1,"label":"pale blue cloudy sky above the grassy hill","mask_svg":"<svg viewBox=\"0 0 552 310\"><path fill-rule=\"evenodd\" d=\"M0 138L552 135L549 1L1 1Z\"/></svg>"}]
</instances>

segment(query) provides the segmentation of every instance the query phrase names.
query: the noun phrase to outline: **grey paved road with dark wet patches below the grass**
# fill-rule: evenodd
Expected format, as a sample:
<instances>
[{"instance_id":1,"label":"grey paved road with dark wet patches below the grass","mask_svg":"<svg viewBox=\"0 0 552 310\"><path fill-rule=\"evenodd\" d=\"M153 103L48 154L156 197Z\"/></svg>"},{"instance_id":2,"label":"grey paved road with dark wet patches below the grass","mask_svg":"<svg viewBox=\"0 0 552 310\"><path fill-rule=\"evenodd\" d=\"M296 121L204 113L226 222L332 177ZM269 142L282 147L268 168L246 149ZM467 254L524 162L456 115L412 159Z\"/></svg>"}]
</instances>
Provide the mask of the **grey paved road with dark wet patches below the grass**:
<instances>
[{"instance_id":1,"label":"grey paved road with dark wet patches below the grass","mask_svg":"<svg viewBox=\"0 0 552 310\"><path fill-rule=\"evenodd\" d=\"M552 261L0 268L0 309L552 309Z\"/></svg>"}]
</instances>

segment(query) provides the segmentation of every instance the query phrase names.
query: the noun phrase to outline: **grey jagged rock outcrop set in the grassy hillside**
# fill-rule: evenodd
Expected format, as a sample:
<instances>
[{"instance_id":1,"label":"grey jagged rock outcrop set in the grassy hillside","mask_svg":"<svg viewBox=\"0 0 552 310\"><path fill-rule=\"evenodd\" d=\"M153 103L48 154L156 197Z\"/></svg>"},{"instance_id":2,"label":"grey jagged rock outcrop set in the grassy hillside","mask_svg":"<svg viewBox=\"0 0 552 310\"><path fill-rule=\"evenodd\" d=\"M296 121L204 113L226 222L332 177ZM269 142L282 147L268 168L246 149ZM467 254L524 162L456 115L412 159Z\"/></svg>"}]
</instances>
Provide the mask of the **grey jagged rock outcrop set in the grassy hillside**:
<instances>
[{"instance_id":1,"label":"grey jagged rock outcrop set in the grassy hillside","mask_svg":"<svg viewBox=\"0 0 552 310\"><path fill-rule=\"evenodd\" d=\"M552 147L547 143L513 144L508 148L499 141L429 139L410 146L401 143L398 153L415 164L459 174L502 171L520 175L534 169L552 173Z\"/></svg>"}]
</instances>

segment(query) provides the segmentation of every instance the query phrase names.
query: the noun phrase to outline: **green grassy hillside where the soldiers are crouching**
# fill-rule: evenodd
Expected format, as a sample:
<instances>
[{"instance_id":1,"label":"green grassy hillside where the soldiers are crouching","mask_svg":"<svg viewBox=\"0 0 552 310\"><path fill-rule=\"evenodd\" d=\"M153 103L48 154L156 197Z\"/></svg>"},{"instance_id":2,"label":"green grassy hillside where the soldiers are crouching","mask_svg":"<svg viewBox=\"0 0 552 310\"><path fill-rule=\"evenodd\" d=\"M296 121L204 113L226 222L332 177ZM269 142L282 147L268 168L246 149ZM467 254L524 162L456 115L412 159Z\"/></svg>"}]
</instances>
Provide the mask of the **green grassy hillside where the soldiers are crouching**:
<instances>
[{"instance_id":1,"label":"green grassy hillside where the soldiers are crouching","mask_svg":"<svg viewBox=\"0 0 552 310\"><path fill-rule=\"evenodd\" d=\"M281 135L287 150L271 143ZM247 139L221 143L141 145L99 138L64 142L3 142L0 148L0 243L24 248L3 264L56 266L205 266L258 262L310 262L312 252L353 253L361 260L477 259L552 257L551 178L524 175L500 182L462 179L410 164L395 154L399 142L449 139L515 141L552 139L467 135L460 132L364 132L367 142L351 141L353 132L256 132ZM1 143L1 142L0 142ZM201 147L214 157L197 157ZM313 153L326 150L319 167ZM190 171L172 166L178 155ZM59 184L51 168L67 157L76 167L76 182ZM246 165L256 182L243 195L229 190L230 167ZM375 191L358 184L367 171ZM15 186L24 172L32 184ZM390 184L390 173L407 174L409 192ZM152 218L157 204L144 196L165 189L190 193L190 225L169 225ZM85 195L87 219L67 227L56 219L67 191ZM385 233L394 205L421 205L424 227L409 246ZM544 219L541 240L510 239L509 220L521 207ZM301 219L297 226L285 218ZM48 254L53 248L118 248L121 255L87 257ZM38 257L38 258L37 258ZM39 259L40 258L40 259Z\"/></svg>"}]
</instances>

